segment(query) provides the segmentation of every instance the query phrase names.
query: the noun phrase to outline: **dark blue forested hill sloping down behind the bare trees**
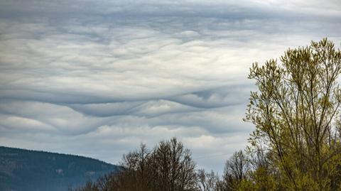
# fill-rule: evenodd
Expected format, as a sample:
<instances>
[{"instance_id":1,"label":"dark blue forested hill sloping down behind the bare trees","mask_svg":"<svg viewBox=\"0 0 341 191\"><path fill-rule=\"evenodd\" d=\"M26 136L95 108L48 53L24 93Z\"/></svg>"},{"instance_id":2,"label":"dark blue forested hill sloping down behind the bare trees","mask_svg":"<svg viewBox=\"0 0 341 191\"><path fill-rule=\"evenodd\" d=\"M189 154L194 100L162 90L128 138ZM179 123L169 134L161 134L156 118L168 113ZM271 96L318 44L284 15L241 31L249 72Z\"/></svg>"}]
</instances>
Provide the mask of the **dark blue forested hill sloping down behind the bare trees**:
<instances>
[{"instance_id":1,"label":"dark blue forested hill sloping down behind the bare trees","mask_svg":"<svg viewBox=\"0 0 341 191\"><path fill-rule=\"evenodd\" d=\"M0 146L2 191L67 190L115 170L93 158Z\"/></svg>"}]
</instances>

